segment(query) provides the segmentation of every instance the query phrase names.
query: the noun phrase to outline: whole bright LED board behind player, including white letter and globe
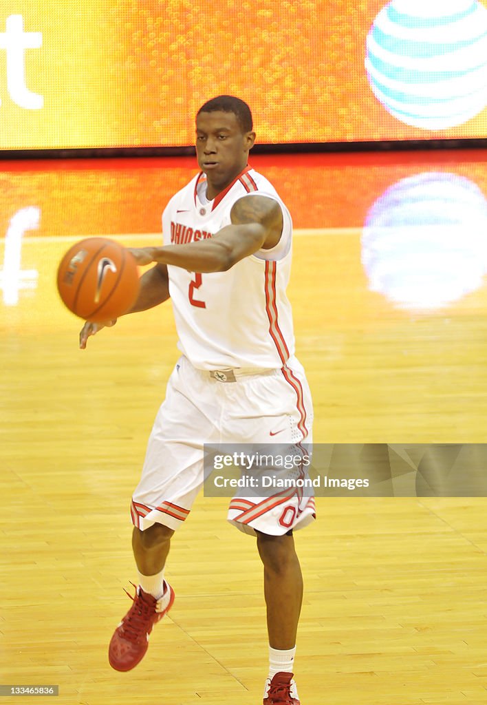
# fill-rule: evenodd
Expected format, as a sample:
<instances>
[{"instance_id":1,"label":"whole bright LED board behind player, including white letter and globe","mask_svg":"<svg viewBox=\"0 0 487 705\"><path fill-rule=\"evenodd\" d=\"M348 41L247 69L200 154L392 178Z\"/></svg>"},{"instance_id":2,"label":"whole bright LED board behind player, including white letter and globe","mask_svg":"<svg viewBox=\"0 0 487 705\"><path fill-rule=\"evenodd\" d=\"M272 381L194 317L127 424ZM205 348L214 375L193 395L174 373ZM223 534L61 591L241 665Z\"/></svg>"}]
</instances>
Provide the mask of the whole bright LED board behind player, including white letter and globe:
<instances>
[{"instance_id":1,"label":"whole bright LED board behind player, including white letter and globe","mask_svg":"<svg viewBox=\"0 0 487 705\"><path fill-rule=\"evenodd\" d=\"M178 147L218 94L264 144L487 137L487 0L4 0L0 149Z\"/></svg>"}]
</instances>

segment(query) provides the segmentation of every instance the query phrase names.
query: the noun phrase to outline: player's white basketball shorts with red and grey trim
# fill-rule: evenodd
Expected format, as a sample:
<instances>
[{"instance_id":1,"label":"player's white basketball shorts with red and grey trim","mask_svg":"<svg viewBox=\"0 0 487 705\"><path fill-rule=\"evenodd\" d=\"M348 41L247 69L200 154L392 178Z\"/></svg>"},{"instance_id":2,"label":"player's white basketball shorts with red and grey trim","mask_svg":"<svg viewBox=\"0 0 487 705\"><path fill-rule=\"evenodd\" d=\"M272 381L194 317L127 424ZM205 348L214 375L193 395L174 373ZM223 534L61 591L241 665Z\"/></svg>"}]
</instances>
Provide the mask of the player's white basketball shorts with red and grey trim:
<instances>
[{"instance_id":1,"label":"player's white basketball shorts with red and grey trim","mask_svg":"<svg viewBox=\"0 0 487 705\"><path fill-rule=\"evenodd\" d=\"M184 356L175 365L132 497L137 528L183 524L203 485L204 443L312 443L312 399L295 357L264 374L237 374L235 381L223 376L195 369ZM280 536L315 517L309 493L288 489L252 498L241 492L230 500L228 521L247 534Z\"/></svg>"}]
</instances>

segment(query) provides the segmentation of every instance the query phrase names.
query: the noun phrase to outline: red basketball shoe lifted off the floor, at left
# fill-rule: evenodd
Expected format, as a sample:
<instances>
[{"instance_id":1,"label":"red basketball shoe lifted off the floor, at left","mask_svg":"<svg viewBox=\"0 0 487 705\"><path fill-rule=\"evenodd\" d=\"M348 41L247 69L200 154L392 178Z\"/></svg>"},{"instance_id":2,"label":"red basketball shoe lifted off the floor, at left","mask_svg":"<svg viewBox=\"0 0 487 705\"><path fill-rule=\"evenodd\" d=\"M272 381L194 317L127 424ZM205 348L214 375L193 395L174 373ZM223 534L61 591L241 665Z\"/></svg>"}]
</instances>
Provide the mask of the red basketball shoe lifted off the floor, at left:
<instances>
[{"instance_id":1,"label":"red basketball shoe lifted off the floor, at left","mask_svg":"<svg viewBox=\"0 0 487 705\"><path fill-rule=\"evenodd\" d=\"M132 585L134 584L132 583ZM167 582L164 582L164 585L164 595L159 600L144 592L140 586L136 588L135 597L125 590L133 600L133 604L111 637L109 662L115 670L135 668L137 663L140 663L144 658L147 646L149 646L149 634L152 632L152 627L173 606L174 590ZM167 602L168 593L169 601ZM165 599L163 600L163 598ZM164 609L161 609L162 602L167 602Z\"/></svg>"}]
</instances>

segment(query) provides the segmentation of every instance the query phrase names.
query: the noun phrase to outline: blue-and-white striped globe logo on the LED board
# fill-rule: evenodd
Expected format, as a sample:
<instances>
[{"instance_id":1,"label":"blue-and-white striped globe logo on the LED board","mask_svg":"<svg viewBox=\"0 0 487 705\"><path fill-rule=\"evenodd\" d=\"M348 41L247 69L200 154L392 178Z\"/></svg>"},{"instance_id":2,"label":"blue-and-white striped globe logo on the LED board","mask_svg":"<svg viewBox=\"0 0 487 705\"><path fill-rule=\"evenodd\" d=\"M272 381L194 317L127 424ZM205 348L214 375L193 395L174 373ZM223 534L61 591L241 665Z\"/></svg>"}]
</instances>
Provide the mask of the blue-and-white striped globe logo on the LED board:
<instances>
[{"instance_id":1,"label":"blue-and-white striped globe logo on the LED board","mask_svg":"<svg viewBox=\"0 0 487 705\"><path fill-rule=\"evenodd\" d=\"M403 123L462 125L487 104L487 9L479 0L392 0L367 36L365 68Z\"/></svg>"}]
</instances>

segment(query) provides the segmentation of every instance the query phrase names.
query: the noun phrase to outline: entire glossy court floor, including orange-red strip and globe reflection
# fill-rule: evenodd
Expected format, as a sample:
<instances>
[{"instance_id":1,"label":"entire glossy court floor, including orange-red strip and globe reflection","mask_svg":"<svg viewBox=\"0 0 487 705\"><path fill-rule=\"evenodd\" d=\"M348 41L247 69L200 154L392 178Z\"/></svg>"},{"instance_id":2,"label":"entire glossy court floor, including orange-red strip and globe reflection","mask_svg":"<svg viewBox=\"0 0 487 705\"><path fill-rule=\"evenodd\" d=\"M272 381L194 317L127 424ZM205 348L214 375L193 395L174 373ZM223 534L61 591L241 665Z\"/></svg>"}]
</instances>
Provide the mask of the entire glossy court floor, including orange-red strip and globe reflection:
<instances>
[{"instance_id":1,"label":"entire glossy court floor, including orange-red strip and globe reflection","mask_svg":"<svg viewBox=\"0 0 487 705\"><path fill-rule=\"evenodd\" d=\"M486 441L486 153L252 164L295 221L288 293L315 441ZM159 242L164 204L193 173L190 158L1 164L0 681L58 685L47 700L62 705L261 703L261 565L226 499L201 496L176 537L175 606L144 661L109 667L135 580L129 499L175 330L163 305L80 351L55 287L75 240ZM302 705L487 702L486 509L318 498L296 536Z\"/></svg>"}]
</instances>

